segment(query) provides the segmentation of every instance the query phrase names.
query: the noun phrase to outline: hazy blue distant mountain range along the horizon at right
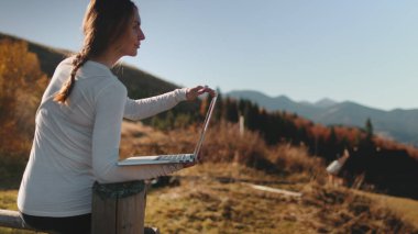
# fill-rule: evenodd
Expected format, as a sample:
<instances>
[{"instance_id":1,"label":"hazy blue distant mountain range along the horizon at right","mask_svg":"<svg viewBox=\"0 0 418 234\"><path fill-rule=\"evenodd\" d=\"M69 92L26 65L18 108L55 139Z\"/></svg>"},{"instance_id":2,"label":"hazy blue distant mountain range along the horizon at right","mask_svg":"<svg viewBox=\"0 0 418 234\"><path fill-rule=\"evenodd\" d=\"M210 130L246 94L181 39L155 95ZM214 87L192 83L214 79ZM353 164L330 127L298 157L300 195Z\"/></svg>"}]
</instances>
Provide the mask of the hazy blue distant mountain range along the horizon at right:
<instances>
[{"instance_id":1,"label":"hazy blue distant mountain range along the horizon at right","mask_svg":"<svg viewBox=\"0 0 418 234\"><path fill-rule=\"evenodd\" d=\"M275 98L258 91L230 91L224 96L235 99L248 99L268 111L286 111L297 113L316 123L324 125L351 125L364 127L370 118L375 134L397 142L418 146L418 110L395 109L384 111L367 108L355 102L336 102L322 99L315 103L297 102L286 96Z\"/></svg>"}]
</instances>

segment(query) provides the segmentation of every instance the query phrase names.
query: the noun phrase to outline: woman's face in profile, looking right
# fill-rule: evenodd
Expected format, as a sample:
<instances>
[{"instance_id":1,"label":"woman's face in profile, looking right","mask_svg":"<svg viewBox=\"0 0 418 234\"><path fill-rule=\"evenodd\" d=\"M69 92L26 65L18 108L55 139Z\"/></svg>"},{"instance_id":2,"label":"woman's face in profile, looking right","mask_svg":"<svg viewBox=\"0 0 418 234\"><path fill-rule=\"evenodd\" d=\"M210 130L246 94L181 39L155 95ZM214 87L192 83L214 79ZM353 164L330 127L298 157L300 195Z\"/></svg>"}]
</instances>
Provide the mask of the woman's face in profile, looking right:
<instances>
[{"instance_id":1,"label":"woman's face in profile, looking right","mask_svg":"<svg viewBox=\"0 0 418 234\"><path fill-rule=\"evenodd\" d=\"M141 18L138 9L134 11L133 18L120 40L119 53L121 56L136 56L141 41L145 40L144 32L141 30Z\"/></svg>"}]
</instances>

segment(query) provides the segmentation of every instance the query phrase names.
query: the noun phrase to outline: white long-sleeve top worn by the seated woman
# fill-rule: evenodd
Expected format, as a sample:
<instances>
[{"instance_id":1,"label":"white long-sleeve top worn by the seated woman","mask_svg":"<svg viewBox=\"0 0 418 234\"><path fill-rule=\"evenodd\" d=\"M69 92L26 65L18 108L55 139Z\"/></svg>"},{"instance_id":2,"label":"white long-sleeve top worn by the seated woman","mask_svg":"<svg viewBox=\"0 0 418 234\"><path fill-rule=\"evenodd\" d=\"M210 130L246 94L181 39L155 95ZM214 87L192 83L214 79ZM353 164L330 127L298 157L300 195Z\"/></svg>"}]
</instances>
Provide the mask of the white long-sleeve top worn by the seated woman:
<instances>
[{"instance_id":1,"label":"white long-sleeve top worn by the seated woman","mask_svg":"<svg viewBox=\"0 0 418 234\"><path fill-rule=\"evenodd\" d=\"M68 79L72 58L56 68L36 112L31 155L19 189L18 207L37 216L91 212L91 187L170 174L180 165L119 167L123 116L141 120L186 100L186 89L132 100L108 67L88 60L79 68L68 105L53 96Z\"/></svg>"}]
</instances>

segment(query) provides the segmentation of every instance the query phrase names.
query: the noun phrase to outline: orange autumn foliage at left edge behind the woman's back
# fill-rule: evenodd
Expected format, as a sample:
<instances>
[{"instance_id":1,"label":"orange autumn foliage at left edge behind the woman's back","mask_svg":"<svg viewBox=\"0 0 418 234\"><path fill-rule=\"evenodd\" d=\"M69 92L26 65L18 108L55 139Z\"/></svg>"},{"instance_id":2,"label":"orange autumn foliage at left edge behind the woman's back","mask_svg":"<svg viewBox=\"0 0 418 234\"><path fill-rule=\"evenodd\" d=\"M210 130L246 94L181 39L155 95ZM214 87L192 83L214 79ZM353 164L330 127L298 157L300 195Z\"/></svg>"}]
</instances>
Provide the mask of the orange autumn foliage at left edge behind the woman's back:
<instances>
[{"instance_id":1,"label":"orange autumn foliage at left edge behind the woman's back","mask_svg":"<svg viewBox=\"0 0 418 234\"><path fill-rule=\"evenodd\" d=\"M0 41L0 151L29 152L34 115L47 85L37 56L25 42Z\"/></svg>"}]
</instances>

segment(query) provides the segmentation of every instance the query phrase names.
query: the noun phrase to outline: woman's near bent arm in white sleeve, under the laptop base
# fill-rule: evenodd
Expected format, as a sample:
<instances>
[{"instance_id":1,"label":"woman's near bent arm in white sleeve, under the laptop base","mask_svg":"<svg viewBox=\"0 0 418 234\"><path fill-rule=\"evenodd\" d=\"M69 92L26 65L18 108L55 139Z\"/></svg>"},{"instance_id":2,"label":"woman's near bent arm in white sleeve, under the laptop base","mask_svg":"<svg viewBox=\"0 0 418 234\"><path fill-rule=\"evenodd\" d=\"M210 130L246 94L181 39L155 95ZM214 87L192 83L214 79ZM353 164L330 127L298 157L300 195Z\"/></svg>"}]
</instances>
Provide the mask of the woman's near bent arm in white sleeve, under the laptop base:
<instances>
[{"instance_id":1,"label":"woman's near bent arm in white sleeve, under the laptop base","mask_svg":"<svg viewBox=\"0 0 418 234\"><path fill-rule=\"evenodd\" d=\"M92 131L92 172L96 179L99 182L142 180L182 169L183 165L117 165L125 101L127 89L119 83L105 88L96 101Z\"/></svg>"}]
</instances>

